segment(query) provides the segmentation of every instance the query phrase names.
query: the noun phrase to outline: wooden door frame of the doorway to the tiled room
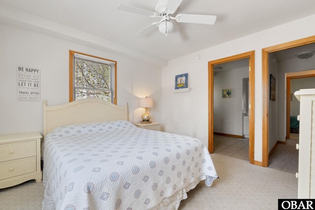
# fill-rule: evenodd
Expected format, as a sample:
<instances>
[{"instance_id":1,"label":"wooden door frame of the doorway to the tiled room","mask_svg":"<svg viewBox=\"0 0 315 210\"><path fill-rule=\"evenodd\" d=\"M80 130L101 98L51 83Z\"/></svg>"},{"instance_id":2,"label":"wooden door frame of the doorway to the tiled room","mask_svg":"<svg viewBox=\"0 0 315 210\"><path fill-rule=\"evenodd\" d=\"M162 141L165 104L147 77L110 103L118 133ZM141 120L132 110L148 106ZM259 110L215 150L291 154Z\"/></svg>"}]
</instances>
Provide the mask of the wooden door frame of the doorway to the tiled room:
<instances>
[{"instance_id":1,"label":"wooden door frame of the doorway to the tiled room","mask_svg":"<svg viewBox=\"0 0 315 210\"><path fill-rule=\"evenodd\" d=\"M211 60L208 62L208 150L213 153L213 70L214 65L249 58L249 80L250 80L250 138L249 158L254 164L254 120L255 120L255 51L241 53L238 55ZM256 163L257 165L261 165Z\"/></svg>"}]
</instances>

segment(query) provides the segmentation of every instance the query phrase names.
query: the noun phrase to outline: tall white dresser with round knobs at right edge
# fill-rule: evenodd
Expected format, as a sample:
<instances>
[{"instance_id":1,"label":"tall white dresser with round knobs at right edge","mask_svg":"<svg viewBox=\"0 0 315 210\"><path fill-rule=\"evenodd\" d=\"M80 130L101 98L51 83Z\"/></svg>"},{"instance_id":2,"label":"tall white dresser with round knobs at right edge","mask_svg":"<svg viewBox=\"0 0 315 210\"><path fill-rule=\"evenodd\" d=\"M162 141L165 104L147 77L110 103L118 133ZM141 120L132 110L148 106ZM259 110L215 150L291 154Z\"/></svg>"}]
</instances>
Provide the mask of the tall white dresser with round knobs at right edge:
<instances>
[{"instance_id":1,"label":"tall white dresser with round knobs at right edge","mask_svg":"<svg viewBox=\"0 0 315 210\"><path fill-rule=\"evenodd\" d=\"M315 89L294 93L300 101L298 198L315 198Z\"/></svg>"}]
</instances>

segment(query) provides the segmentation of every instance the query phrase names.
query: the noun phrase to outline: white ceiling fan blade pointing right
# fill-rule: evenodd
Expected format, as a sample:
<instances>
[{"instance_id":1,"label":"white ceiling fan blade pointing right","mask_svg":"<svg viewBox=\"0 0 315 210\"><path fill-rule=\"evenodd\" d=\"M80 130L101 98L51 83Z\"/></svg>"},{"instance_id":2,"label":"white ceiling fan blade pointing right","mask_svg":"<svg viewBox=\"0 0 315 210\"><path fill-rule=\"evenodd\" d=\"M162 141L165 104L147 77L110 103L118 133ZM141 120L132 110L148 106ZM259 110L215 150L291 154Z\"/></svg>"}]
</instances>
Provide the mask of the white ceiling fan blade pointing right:
<instances>
[{"instance_id":1,"label":"white ceiling fan blade pointing right","mask_svg":"<svg viewBox=\"0 0 315 210\"><path fill-rule=\"evenodd\" d=\"M217 16L215 15L190 15L178 14L176 21L179 23L198 23L213 25L216 22Z\"/></svg>"}]
</instances>

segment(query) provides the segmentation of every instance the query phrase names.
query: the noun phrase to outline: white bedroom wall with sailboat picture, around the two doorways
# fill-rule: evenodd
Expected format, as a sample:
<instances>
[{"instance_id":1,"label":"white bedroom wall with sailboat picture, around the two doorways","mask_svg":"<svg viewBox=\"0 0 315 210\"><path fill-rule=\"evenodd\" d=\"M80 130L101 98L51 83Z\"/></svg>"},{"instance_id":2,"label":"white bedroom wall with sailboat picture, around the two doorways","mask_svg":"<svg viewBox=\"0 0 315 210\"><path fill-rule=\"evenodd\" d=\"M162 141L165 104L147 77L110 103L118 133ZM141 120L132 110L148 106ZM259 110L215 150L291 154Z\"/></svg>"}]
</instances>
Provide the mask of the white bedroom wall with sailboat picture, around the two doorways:
<instances>
[{"instance_id":1,"label":"white bedroom wall with sailboat picture, around the two doorways","mask_svg":"<svg viewBox=\"0 0 315 210\"><path fill-rule=\"evenodd\" d=\"M315 34L315 15L170 60L162 68L162 123L165 131L196 132L208 145L208 61L255 50L255 154L262 160L261 49ZM211 37L209 37L211 38ZM200 60L195 57L200 55ZM175 75L189 73L189 92L173 93ZM279 84L280 85L280 84Z\"/></svg>"}]
</instances>

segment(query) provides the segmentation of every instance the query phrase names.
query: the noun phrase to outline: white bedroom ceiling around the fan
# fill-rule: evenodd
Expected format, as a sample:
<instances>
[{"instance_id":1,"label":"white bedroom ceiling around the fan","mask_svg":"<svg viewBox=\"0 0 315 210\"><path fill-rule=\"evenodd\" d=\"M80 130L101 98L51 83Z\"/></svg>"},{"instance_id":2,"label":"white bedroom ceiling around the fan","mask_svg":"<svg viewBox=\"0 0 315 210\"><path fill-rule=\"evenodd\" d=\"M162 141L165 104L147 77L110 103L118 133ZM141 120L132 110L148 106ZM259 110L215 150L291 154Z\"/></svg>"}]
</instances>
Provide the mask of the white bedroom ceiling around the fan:
<instances>
[{"instance_id":1,"label":"white bedroom ceiling around the fan","mask_svg":"<svg viewBox=\"0 0 315 210\"><path fill-rule=\"evenodd\" d=\"M176 24L185 41L158 30L134 36L157 19L116 10L119 3L154 10L156 0L0 0L4 5L171 60L315 14L315 0L183 0L180 13L217 15L215 25Z\"/></svg>"}]
</instances>

